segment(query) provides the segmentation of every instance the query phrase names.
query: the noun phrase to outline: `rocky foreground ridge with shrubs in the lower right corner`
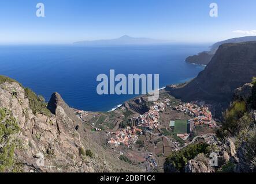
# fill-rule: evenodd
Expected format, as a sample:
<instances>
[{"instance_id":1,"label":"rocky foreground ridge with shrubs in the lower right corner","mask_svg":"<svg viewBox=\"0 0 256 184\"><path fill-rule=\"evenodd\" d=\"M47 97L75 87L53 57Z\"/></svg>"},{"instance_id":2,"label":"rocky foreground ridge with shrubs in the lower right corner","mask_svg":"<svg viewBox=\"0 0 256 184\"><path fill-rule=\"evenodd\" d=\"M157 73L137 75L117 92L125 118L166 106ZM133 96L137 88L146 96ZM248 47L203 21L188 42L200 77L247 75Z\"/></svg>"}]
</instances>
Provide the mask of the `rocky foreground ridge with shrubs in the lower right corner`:
<instances>
[{"instance_id":1,"label":"rocky foreground ridge with shrubs in the lower right corner","mask_svg":"<svg viewBox=\"0 0 256 184\"><path fill-rule=\"evenodd\" d=\"M235 90L222 126L210 139L173 152L164 170L171 173L256 172L256 79ZM216 159L213 159L213 158Z\"/></svg>"}]
</instances>

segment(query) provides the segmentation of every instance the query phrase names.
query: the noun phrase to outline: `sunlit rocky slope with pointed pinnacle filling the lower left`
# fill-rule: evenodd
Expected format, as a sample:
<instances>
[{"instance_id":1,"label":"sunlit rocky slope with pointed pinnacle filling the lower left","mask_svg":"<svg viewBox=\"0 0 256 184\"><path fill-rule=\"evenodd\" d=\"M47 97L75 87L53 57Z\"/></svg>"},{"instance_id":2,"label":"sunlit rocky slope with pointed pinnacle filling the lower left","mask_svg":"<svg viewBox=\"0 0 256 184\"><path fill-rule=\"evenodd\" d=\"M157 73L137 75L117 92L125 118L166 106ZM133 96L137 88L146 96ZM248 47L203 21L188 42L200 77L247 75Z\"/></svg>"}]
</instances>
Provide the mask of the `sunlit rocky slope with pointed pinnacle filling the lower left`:
<instances>
[{"instance_id":1,"label":"sunlit rocky slope with pointed pinnacle filling the lower left","mask_svg":"<svg viewBox=\"0 0 256 184\"><path fill-rule=\"evenodd\" d=\"M0 80L0 172L140 171L105 149L54 93L54 114L33 113L32 99L17 82ZM46 109L46 104L42 104Z\"/></svg>"}]
</instances>

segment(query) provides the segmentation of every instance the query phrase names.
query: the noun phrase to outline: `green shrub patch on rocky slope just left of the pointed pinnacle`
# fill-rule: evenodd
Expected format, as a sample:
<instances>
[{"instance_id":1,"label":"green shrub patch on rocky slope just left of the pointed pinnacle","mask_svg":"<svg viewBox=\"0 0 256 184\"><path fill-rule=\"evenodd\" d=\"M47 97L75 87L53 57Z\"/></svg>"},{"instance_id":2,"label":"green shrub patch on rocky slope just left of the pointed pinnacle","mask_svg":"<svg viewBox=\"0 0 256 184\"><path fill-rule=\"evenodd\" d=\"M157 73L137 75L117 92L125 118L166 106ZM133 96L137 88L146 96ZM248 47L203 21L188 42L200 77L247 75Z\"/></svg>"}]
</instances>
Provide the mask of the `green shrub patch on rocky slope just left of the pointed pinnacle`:
<instances>
[{"instance_id":1,"label":"green shrub patch on rocky slope just left of the pointed pinnacle","mask_svg":"<svg viewBox=\"0 0 256 184\"><path fill-rule=\"evenodd\" d=\"M29 99L29 107L34 114L43 114L50 117L51 112L47 109L47 103L40 95L36 95L31 89L25 88L25 95Z\"/></svg>"}]
</instances>

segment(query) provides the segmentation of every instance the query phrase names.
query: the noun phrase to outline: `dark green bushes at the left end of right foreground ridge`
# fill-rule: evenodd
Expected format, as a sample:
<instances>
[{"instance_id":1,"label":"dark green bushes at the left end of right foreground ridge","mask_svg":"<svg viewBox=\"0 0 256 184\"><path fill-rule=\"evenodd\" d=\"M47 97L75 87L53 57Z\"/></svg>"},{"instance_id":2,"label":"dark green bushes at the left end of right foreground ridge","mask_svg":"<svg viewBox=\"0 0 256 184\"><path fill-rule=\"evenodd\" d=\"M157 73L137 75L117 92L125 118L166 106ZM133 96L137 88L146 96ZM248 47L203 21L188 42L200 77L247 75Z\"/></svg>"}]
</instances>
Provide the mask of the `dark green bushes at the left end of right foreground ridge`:
<instances>
[{"instance_id":1,"label":"dark green bushes at the left end of right foreground ridge","mask_svg":"<svg viewBox=\"0 0 256 184\"><path fill-rule=\"evenodd\" d=\"M172 164L177 171L184 172L185 164L198 154L205 154L209 145L206 143L191 144L179 151L173 151L165 160L165 164Z\"/></svg>"}]
</instances>

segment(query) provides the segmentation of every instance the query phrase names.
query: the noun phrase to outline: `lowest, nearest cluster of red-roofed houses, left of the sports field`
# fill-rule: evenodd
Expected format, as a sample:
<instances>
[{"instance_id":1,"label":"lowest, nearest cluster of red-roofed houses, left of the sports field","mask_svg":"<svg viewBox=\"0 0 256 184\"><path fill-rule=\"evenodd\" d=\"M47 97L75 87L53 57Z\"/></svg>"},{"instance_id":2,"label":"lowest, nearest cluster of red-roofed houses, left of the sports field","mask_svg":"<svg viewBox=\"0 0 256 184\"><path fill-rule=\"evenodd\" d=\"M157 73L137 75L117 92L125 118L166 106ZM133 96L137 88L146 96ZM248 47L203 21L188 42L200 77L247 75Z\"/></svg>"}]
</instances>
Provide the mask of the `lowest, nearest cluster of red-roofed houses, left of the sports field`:
<instances>
[{"instance_id":1,"label":"lowest, nearest cluster of red-roofed houses, left of the sports field","mask_svg":"<svg viewBox=\"0 0 256 184\"><path fill-rule=\"evenodd\" d=\"M127 127L120 131L110 132L112 137L108 143L111 147L118 147L118 145L124 144L127 147L132 148L138 140L138 135L140 135L140 133L142 133L142 129L136 127Z\"/></svg>"}]
</instances>

